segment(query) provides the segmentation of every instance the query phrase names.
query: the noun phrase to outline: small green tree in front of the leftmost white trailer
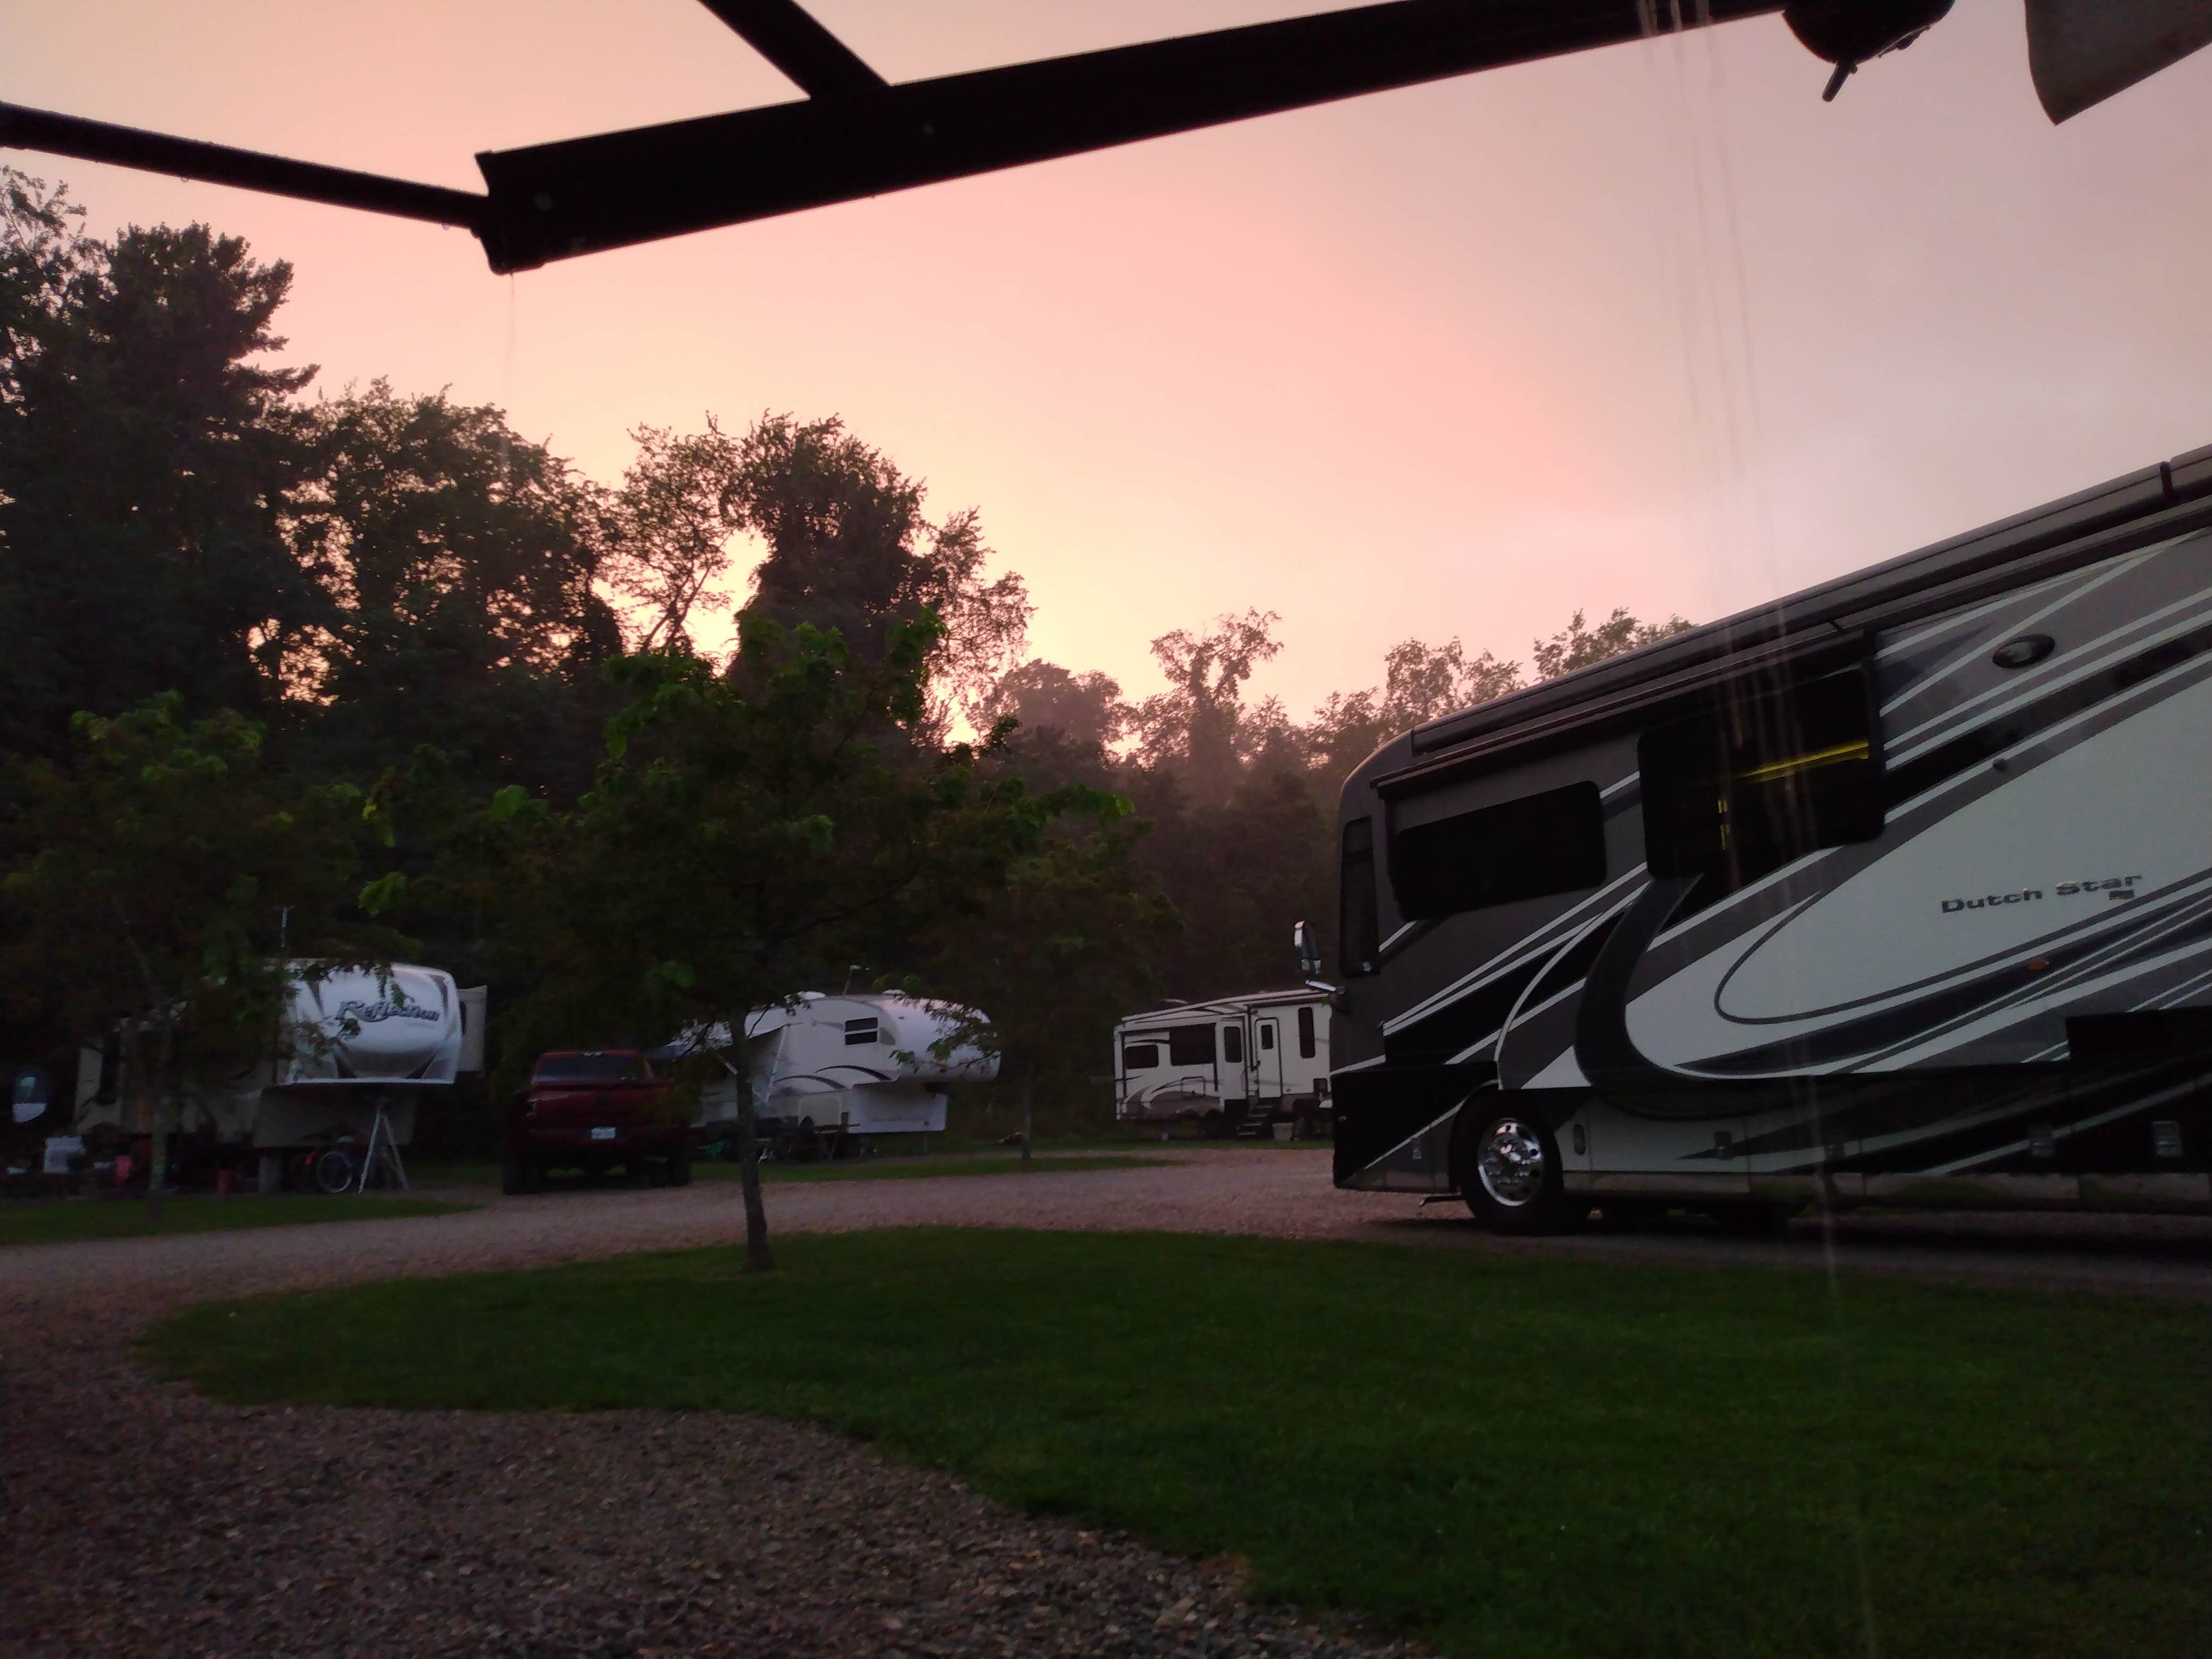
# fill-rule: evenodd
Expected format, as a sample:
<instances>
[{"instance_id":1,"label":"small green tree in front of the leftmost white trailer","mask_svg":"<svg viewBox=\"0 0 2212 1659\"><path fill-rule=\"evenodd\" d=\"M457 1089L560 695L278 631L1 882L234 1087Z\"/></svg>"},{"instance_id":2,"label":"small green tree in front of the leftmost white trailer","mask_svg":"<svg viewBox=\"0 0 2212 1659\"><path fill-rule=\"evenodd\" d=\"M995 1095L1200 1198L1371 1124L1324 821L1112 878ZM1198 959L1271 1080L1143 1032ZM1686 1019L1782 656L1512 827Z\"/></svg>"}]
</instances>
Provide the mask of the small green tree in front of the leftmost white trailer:
<instances>
[{"instance_id":1,"label":"small green tree in front of the leftmost white trailer","mask_svg":"<svg viewBox=\"0 0 2212 1659\"><path fill-rule=\"evenodd\" d=\"M268 1055L288 951L378 962L398 942L352 902L363 794L283 790L257 723L179 708L77 714L71 763L24 768L11 838L29 852L0 885L7 1000L75 1044L119 1035L153 1203L179 1095Z\"/></svg>"}]
</instances>

